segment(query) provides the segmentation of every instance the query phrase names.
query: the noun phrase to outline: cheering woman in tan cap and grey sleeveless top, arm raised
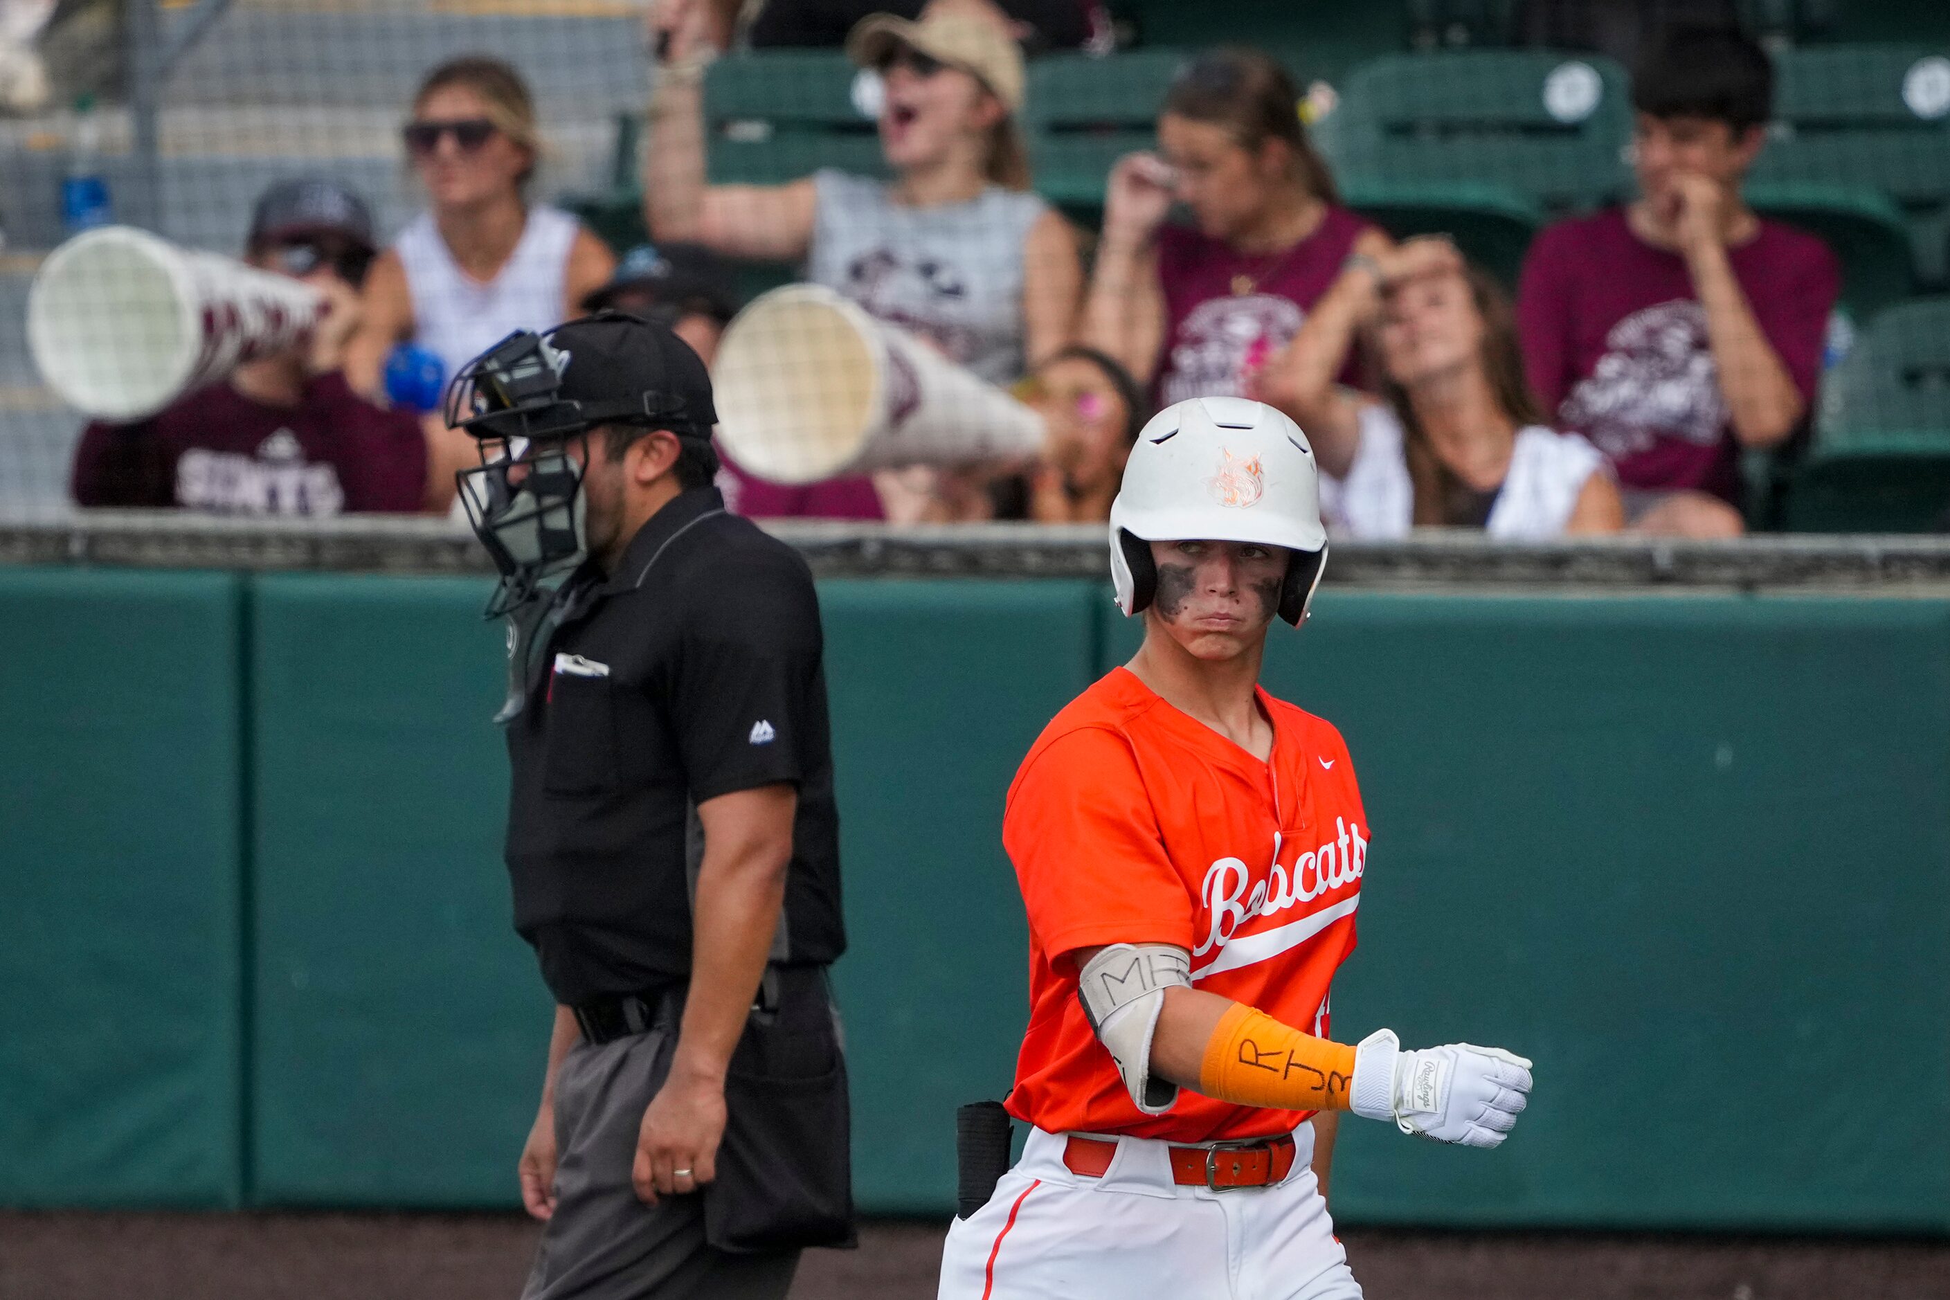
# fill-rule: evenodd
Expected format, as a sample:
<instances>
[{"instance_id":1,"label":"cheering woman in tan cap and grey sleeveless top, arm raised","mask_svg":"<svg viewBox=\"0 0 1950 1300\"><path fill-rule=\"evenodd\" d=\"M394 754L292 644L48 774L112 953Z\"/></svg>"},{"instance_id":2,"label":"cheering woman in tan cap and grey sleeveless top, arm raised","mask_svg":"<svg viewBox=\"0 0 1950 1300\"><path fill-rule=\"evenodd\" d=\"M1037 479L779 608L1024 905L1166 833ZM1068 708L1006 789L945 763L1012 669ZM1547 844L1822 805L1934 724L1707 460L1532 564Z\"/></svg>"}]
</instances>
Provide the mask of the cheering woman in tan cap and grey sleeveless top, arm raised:
<instances>
[{"instance_id":1,"label":"cheering woman in tan cap and grey sleeveless top, arm raised","mask_svg":"<svg viewBox=\"0 0 1950 1300\"><path fill-rule=\"evenodd\" d=\"M805 277L930 341L993 384L1071 341L1082 269L1063 218L1030 193L1016 127L1022 53L969 4L920 21L862 19L846 49L881 74L891 181L823 170L786 185L704 175L702 60L692 0L665 21L651 101L645 218L657 240L731 257L803 261Z\"/></svg>"}]
</instances>

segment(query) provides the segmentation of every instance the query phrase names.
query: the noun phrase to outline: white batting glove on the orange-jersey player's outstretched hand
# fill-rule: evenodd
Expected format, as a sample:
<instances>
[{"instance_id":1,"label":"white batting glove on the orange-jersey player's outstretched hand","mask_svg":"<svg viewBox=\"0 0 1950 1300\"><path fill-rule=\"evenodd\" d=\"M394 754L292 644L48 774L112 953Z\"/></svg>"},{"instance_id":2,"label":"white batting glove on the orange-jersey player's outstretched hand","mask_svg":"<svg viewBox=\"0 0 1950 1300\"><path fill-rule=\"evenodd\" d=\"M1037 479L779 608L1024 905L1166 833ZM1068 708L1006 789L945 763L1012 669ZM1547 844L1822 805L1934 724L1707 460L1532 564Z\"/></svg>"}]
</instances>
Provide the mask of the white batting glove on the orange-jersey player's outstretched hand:
<instances>
[{"instance_id":1,"label":"white batting glove on the orange-jersey player's outstretched hand","mask_svg":"<svg viewBox=\"0 0 1950 1300\"><path fill-rule=\"evenodd\" d=\"M1392 1029L1353 1049L1355 1115L1459 1146L1498 1146L1531 1095L1531 1062L1500 1047L1451 1043L1404 1052Z\"/></svg>"}]
</instances>

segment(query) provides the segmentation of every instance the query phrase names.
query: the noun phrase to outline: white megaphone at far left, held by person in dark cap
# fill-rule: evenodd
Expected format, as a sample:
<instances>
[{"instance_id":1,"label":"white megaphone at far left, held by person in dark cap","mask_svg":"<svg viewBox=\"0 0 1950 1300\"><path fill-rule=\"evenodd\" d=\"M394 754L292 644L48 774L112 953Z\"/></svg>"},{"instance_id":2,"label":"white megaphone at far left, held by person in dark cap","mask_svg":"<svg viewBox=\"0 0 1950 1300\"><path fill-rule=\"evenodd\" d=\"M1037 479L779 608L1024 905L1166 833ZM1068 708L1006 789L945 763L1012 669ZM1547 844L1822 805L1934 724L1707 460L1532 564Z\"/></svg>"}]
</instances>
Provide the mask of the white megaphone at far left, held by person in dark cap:
<instances>
[{"instance_id":1,"label":"white megaphone at far left, held by person in dark cap","mask_svg":"<svg viewBox=\"0 0 1950 1300\"><path fill-rule=\"evenodd\" d=\"M310 285L133 226L78 234L27 290L27 351L92 419L133 421L294 347L326 312Z\"/></svg>"}]
</instances>

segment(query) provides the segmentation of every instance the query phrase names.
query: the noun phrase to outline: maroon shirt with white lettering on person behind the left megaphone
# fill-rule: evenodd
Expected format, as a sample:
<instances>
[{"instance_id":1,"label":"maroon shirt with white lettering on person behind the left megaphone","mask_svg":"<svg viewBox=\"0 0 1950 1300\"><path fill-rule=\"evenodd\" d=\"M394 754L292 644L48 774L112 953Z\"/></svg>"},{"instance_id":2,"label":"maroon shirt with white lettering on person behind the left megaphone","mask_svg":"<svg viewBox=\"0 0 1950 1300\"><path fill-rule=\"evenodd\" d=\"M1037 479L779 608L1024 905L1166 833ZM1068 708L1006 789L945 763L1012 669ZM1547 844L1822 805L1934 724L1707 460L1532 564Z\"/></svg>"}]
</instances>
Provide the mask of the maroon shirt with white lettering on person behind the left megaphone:
<instances>
[{"instance_id":1,"label":"maroon shirt with white lettering on person behind the left megaphone","mask_svg":"<svg viewBox=\"0 0 1950 1300\"><path fill-rule=\"evenodd\" d=\"M214 384L133 425L88 425L70 491L76 505L222 515L419 511L427 440L417 417L372 405L339 372L294 407Z\"/></svg>"}]
</instances>

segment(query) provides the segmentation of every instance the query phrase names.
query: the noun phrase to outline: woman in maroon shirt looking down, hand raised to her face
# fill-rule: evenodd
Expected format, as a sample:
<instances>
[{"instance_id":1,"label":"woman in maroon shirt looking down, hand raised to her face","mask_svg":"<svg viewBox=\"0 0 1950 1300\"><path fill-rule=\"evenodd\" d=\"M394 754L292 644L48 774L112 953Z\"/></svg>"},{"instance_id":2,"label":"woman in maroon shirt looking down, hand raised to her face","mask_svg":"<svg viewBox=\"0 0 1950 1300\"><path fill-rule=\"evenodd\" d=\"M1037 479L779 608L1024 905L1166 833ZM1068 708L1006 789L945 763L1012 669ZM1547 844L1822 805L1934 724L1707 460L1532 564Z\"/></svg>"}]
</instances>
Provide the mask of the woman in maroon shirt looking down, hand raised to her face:
<instances>
[{"instance_id":1,"label":"woman in maroon shirt looking down, hand raised to her face","mask_svg":"<svg viewBox=\"0 0 1950 1300\"><path fill-rule=\"evenodd\" d=\"M1260 370L1349 253L1388 249L1388 236L1340 205L1299 107L1271 57L1207 51L1164 97L1164 156L1112 168L1082 337L1160 407L1258 398ZM1197 226L1168 226L1172 203Z\"/></svg>"}]
</instances>

